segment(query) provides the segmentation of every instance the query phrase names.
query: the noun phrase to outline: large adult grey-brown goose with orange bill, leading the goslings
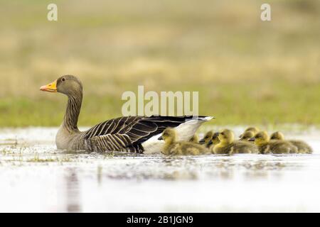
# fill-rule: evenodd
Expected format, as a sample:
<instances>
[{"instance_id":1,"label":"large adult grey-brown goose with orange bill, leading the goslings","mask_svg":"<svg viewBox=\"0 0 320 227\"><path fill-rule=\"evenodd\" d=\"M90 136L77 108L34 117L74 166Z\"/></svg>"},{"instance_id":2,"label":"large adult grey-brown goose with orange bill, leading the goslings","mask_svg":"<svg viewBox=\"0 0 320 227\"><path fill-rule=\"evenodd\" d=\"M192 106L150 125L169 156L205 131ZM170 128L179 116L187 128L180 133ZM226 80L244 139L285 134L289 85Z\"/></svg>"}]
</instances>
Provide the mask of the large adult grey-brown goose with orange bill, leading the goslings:
<instances>
[{"instance_id":1,"label":"large adult grey-brown goose with orange bill, leading the goslings","mask_svg":"<svg viewBox=\"0 0 320 227\"><path fill-rule=\"evenodd\" d=\"M73 75L65 75L40 89L44 92L60 92L68 96L63 123L55 136L55 144L62 150L160 153L164 142L158 138L165 128L176 128L179 140L189 140L201 123L213 118L210 116L122 116L81 132L78 129L83 94L80 79Z\"/></svg>"}]
</instances>

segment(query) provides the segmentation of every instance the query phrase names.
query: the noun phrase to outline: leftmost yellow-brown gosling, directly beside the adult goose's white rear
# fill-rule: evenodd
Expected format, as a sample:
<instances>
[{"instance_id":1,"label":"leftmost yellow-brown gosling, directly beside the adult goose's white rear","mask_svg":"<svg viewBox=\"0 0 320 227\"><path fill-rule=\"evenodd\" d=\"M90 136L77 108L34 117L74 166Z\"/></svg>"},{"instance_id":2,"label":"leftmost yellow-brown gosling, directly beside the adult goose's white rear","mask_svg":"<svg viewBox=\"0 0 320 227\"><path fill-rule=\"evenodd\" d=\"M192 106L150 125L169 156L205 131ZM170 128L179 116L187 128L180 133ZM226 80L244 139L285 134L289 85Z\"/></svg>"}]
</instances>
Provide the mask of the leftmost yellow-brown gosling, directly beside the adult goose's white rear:
<instances>
[{"instance_id":1,"label":"leftmost yellow-brown gosling, directly beside the adult goose's white rear","mask_svg":"<svg viewBox=\"0 0 320 227\"><path fill-rule=\"evenodd\" d=\"M164 148L161 153L164 155L204 155L209 150L203 145L176 141L176 131L173 128L166 128L158 140L164 140Z\"/></svg>"}]
</instances>

